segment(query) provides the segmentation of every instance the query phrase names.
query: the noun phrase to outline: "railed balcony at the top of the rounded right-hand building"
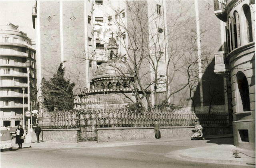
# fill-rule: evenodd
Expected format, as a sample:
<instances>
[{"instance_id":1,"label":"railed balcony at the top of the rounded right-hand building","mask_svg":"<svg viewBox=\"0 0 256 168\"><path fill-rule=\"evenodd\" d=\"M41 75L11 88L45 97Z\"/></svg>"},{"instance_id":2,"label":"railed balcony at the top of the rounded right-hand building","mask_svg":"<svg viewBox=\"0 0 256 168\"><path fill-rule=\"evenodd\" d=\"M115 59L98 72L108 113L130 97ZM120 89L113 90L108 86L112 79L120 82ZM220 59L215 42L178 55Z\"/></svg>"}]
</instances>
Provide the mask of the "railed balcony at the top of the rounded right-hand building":
<instances>
[{"instance_id":1,"label":"railed balcony at the top of the rounded right-hand building","mask_svg":"<svg viewBox=\"0 0 256 168\"><path fill-rule=\"evenodd\" d=\"M227 13L225 8L226 0L214 0L214 14L223 22L227 22Z\"/></svg>"}]
</instances>

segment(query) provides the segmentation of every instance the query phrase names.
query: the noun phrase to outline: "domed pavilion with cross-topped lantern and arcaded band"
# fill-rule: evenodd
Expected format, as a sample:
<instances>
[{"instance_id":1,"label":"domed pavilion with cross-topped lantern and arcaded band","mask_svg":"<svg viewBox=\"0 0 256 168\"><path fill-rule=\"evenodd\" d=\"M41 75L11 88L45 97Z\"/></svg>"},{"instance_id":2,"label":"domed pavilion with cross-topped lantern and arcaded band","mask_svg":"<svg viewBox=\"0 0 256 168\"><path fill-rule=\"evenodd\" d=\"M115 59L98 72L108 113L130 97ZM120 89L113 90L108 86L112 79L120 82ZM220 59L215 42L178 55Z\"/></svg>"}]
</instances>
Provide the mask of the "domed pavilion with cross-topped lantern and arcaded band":
<instances>
[{"instance_id":1,"label":"domed pavilion with cross-topped lantern and arcaded band","mask_svg":"<svg viewBox=\"0 0 256 168\"><path fill-rule=\"evenodd\" d=\"M110 38L108 43L110 57L96 70L90 82L91 90L84 92L88 98L99 98L100 107L120 108L132 101L136 102L131 84L134 82L134 76L130 69L116 57L117 50L116 40Z\"/></svg>"}]
</instances>

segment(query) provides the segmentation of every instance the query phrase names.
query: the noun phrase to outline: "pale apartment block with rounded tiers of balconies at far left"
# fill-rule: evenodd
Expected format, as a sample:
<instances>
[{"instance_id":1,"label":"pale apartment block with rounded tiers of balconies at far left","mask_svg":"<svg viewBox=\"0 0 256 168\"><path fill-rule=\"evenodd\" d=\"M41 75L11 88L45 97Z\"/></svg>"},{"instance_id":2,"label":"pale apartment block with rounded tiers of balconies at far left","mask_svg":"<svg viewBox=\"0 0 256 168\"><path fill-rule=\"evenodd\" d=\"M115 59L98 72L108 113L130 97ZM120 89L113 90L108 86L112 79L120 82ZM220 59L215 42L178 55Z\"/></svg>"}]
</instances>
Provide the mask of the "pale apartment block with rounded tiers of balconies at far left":
<instances>
[{"instance_id":1,"label":"pale apartment block with rounded tiers of balconies at far left","mask_svg":"<svg viewBox=\"0 0 256 168\"><path fill-rule=\"evenodd\" d=\"M28 108L28 82L26 61L30 67L30 101L36 106L36 48L27 34L13 24L0 26L1 126L23 124L23 97ZM25 89L23 94L23 88ZM31 106L30 105L30 106ZM35 118L35 117L33 117ZM26 118L27 120L27 118ZM35 121L35 119L33 119ZM33 122L32 122L33 123Z\"/></svg>"}]
</instances>

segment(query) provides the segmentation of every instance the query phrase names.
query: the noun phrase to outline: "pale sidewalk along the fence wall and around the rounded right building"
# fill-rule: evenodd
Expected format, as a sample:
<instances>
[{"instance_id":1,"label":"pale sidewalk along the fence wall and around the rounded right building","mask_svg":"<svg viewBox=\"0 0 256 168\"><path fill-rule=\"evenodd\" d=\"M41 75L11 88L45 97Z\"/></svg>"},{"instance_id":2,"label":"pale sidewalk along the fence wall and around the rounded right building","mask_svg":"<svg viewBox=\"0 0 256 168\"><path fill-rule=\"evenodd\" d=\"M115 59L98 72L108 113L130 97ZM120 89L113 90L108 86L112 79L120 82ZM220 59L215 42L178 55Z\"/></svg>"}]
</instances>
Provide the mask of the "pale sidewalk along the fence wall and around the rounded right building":
<instances>
[{"instance_id":1,"label":"pale sidewalk along the fence wall and around the rounded right building","mask_svg":"<svg viewBox=\"0 0 256 168\"><path fill-rule=\"evenodd\" d=\"M129 145L139 145L139 144L149 144L157 142L175 142L179 143L181 140L185 141L187 146L192 148L185 150L173 151L166 154L166 157L176 158L181 160L190 160L195 162L208 162L214 164L235 164L241 166L254 166L255 167L255 151L244 150L237 148L231 144L221 144L221 138L230 138L233 135L214 135L205 136L206 140L193 141L190 138L167 138L167 139L150 139L150 140L129 140L129 141L116 141L116 142L78 142L78 143L61 143L61 142L49 142L40 141L36 142L36 135L32 134L33 143L24 143L22 147L32 148L44 148L44 149L68 149L68 148L100 148L100 147L114 147L114 146L129 146ZM226 139L223 139L226 140ZM200 144L204 144L201 146ZM14 148L17 148L18 144L15 144ZM239 150L238 156L241 158L235 158L232 150Z\"/></svg>"}]
</instances>

